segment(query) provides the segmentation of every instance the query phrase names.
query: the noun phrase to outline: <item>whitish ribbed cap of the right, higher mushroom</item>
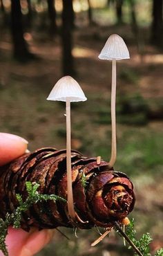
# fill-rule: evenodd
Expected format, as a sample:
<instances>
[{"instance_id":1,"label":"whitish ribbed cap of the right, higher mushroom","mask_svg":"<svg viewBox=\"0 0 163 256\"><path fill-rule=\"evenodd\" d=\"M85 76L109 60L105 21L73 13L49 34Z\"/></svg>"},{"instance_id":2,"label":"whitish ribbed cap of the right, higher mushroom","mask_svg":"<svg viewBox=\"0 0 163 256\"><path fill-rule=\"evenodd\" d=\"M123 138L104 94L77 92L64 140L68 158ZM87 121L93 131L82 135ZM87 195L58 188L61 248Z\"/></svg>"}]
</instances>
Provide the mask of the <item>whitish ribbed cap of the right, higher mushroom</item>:
<instances>
[{"instance_id":1,"label":"whitish ribbed cap of the right, higher mushroom","mask_svg":"<svg viewBox=\"0 0 163 256\"><path fill-rule=\"evenodd\" d=\"M113 34L108 37L104 48L102 48L99 54L101 60L123 60L130 59L128 48L122 39L117 34Z\"/></svg>"}]
</instances>

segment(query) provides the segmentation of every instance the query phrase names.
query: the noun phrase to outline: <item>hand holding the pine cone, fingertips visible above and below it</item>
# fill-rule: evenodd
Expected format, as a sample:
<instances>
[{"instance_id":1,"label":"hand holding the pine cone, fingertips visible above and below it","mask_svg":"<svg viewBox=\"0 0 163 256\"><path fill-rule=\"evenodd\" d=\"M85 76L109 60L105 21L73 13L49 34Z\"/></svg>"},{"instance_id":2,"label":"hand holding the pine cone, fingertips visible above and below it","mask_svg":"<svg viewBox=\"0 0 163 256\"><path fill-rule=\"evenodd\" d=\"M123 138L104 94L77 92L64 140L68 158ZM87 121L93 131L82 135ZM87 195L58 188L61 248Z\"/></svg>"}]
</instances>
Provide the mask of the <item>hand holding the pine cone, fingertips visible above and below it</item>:
<instances>
[{"instance_id":1,"label":"hand holding the pine cone, fingertips visible above and below it","mask_svg":"<svg viewBox=\"0 0 163 256\"><path fill-rule=\"evenodd\" d=\"M5 165L26 152L28 142L19 136L0 133L0 165ZM38 253L52 238L53 230L30 232L8 228L6 244L9 256L32 256ZM0 251L0 256L3 253Z\"/></svg>"}]
</instances>

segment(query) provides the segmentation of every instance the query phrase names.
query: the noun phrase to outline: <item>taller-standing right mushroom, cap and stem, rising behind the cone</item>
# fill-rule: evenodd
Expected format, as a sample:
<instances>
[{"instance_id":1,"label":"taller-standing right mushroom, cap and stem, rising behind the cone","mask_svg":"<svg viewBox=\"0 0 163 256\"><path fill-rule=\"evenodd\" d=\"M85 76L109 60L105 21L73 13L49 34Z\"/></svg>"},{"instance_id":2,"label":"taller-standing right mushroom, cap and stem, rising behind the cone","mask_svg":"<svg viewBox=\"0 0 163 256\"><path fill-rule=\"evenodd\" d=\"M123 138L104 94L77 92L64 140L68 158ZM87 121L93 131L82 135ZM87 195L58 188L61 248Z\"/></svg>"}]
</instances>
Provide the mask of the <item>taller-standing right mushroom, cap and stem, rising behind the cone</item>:
<instances>
[{"instance_id":1,"label":"taller-standing right mushroom, cap and stem, rising behind the cone","mask_svg":"<svg viewBox=\"0 0 163 256\"><path fill-rule=\"evenodd\" d=\"M115 100L116 100L116 60L130 59L128 48L122 37L113 34L108 37L104 48L99 54L101 60L112 61L112 82L111 82L111 127L112 127L112 142L111 142L111 159L110 167L113 167L117 157L117 142L116 142L116 116L115 116Z\"/></svg>"}]
</instances>

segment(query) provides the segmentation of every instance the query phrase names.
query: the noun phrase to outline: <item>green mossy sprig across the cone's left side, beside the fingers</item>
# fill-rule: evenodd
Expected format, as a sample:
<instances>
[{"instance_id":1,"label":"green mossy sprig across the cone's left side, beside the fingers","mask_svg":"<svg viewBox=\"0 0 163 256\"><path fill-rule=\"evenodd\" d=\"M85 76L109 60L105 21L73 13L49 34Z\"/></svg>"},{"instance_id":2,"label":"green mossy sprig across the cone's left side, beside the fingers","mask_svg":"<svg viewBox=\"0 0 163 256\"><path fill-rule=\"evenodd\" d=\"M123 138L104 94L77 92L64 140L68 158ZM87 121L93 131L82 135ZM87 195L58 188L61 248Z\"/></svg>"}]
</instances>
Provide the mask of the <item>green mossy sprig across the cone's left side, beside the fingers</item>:
<instances>
[{"instance_id":1,"label":"green mossy sprig across the cone's left side, beside the fingers","mask_svg":"<svg viewBox=\"0 0 163 256\"><path fill-rule=\"evenodd\" d=\"M26 182L26 190L28 192L28 197L25 201L21 194L17 194L17 200L19 201L19 206L12 213L7 213L5 220L0 218L0 250L3 255L8 256L8 249L6 246L6 236L8 235L8 227L13 226L14 228L21 227L21 215L23 212L26 212L31 205L48 200L59 200L66 203L66 199L56 196L55 194L39 194L37 191L39 188L38 183L31 183L30 181Z\"/></svg>"}]
</instances>

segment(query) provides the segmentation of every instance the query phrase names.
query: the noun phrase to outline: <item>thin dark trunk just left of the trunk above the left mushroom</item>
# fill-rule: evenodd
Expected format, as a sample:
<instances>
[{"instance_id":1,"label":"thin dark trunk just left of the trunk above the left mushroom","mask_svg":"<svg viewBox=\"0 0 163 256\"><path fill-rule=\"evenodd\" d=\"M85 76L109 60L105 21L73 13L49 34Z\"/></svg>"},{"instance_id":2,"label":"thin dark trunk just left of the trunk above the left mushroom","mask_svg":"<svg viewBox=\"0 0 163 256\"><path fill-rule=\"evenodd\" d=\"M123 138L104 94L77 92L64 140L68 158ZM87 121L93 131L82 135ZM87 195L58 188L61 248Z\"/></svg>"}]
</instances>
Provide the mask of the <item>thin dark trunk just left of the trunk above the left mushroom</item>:
<instances>
[{"instance_id":1,"label":"thin dark trunk just left of the trunk above the left mushroom","mask_svg":"<svg viewBox=\"0 0 163 256\"><path fill-rule=\"evenodd\" d=\"M48 15L50 21L50 36L54 37L57 33L57 23L56 23L56 10L55 10L55 0L48 1Z\"/></svg>"}]
</instances>

